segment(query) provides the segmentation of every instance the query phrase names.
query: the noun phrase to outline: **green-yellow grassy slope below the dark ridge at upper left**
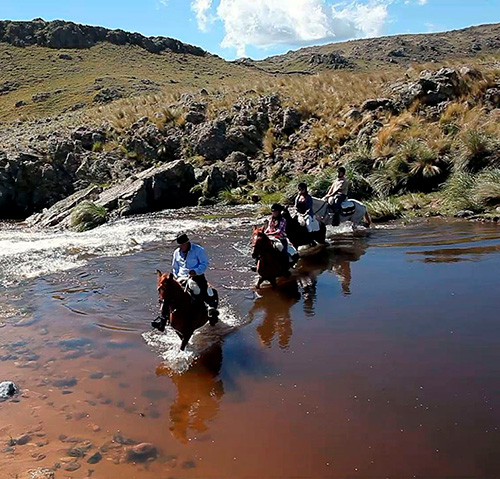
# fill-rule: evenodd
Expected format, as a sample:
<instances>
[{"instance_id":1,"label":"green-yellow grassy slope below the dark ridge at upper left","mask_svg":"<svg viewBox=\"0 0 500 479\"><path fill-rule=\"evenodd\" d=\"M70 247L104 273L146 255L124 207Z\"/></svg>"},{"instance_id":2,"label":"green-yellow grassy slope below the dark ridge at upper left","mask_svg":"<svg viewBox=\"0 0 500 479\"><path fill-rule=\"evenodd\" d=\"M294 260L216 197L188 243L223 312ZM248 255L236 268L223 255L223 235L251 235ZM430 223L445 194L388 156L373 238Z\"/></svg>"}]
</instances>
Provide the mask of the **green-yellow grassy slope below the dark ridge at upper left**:
<instances>
[{"instance_id":1,"label":"green-yellow grassy slope below the dark ridge at upper left","mask_svg":"<svg viewBox=\"0 0 500 479\"><path fill-rule=\"evenodd\" d=\"M0 43L0 121L59 115L110 98L231 87L265 74L213 56L150 53L133 45L99 43L55 50ZM36 96L38 95L38 97ZM99 99L99 96L97 97ZM25 102L16 107L16 103Z\"/></svg>"}]
</instances>

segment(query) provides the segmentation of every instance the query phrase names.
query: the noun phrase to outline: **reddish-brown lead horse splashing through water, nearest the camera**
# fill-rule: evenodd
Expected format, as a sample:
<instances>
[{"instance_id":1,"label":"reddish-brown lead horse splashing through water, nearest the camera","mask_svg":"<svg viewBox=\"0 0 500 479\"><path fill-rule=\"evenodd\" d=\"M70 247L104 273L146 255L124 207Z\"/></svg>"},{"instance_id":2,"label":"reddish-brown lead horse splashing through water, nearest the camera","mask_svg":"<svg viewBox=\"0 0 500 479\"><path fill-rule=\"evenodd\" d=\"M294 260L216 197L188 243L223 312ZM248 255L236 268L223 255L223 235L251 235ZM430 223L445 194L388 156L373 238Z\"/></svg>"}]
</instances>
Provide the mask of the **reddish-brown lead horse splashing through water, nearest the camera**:
<instances>
[{"instance_id":1,"label":"reddish-brown lead horse splashing through water, nearest the camera","mask_svg":"<svg viewBox=\"0 0 500 479\"><path fill-rule=\"evenodd\" d=\"M158 295L162 301L160 323L153 326L160 331L170 324L181 338L181 351L184 351L193 333L210 321L211 326L217 323L217 317L209 318L208 309L202 299L193 297L175 278L172 273L158 275ZM217 298L217 291L213 289ZM156 324L155 324L156 323Z\"/></svg>"}]
</instances>

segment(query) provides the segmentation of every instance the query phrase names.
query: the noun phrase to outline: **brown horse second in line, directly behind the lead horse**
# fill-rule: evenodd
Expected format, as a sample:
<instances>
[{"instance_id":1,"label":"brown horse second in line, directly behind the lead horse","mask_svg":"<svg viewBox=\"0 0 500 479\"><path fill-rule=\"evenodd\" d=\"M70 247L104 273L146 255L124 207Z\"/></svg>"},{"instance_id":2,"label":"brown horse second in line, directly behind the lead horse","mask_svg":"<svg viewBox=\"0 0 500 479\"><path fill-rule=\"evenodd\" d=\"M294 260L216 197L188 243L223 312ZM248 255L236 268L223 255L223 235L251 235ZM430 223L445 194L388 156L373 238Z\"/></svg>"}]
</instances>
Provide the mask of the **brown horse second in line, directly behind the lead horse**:
<instances>
[{"instance_id":1,"label":"brown horse second in line, directly behind the lead horse","mask_svg":"<svg viewBox=\"0 0 500 479\"><path fill-rule=\"evenodd\" d=\"M252 246L252 258L257 259L257 273L259 274L257 288L260 288L264 281L269 281L274 288L277 278L290 276L288 255L278 251L262 228L257 226L253 228Z\"/></svg>"}]
</instances>

